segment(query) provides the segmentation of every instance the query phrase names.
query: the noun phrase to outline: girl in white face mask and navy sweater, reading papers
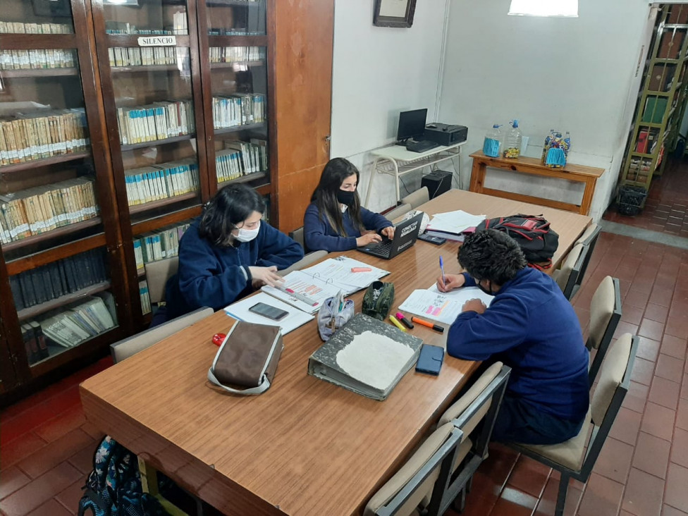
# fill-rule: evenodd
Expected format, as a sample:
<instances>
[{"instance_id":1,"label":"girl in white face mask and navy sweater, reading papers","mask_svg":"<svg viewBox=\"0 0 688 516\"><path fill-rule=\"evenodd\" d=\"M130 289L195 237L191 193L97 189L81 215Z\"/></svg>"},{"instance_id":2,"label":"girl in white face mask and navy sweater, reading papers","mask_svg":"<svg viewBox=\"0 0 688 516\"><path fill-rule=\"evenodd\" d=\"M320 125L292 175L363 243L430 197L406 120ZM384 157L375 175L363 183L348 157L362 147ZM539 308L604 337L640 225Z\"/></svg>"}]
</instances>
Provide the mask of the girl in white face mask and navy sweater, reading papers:
<instances>
[{"instance_id":1,"label":"girl in white face mask and navy sweater, reading papers","mask_svg":"<svg viewBox=\"0 0 688 516\"><path fill-rule=\"evenodd\" d=\"M262 223L263 199L246 185L222 188L179 242L179 270L166 285L166 319L199 307L219 310L262 285L282 280L302 247Z\"/></svg>"}]
</instances>

